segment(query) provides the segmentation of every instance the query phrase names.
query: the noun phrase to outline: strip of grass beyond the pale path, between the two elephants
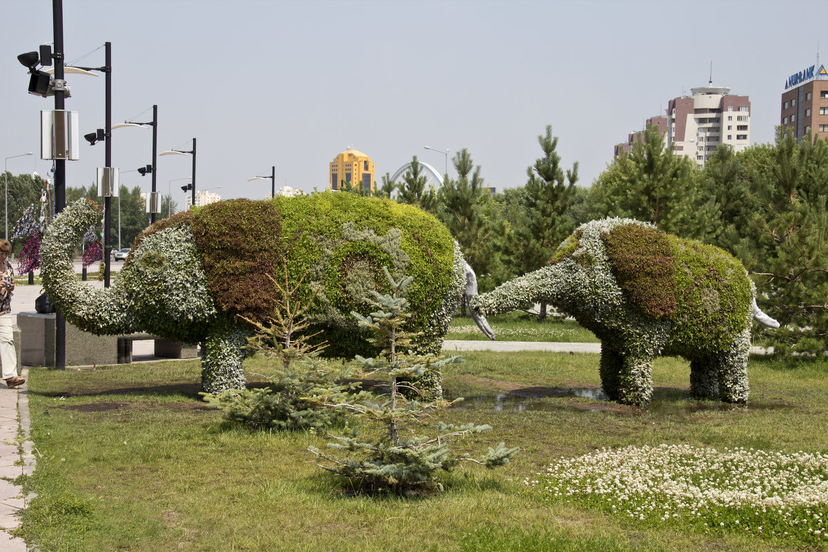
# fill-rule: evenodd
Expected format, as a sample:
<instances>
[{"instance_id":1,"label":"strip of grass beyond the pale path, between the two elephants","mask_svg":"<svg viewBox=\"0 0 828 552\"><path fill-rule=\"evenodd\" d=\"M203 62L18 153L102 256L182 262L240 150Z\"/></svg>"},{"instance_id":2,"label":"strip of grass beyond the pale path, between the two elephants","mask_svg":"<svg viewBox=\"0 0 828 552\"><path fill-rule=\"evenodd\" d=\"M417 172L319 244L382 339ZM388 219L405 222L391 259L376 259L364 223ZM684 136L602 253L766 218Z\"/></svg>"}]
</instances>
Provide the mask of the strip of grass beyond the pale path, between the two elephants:
<instances>
[{"instance_id":1,"label":"strip of grass beyond the pale path, between the two elephants","mask_svg":"<svg viewBox=\"0 0 828 552\"><path fill-rule=\"evenodd\" d=\"M525 313L498 314L487 318L489 327L498 341L551 341L561 343L598 343L598 338L588 329L583 329L575 320L547 316L543 322L537 316ZM455 317L451 320L446 339L470 339L484 341L486 336L469 318Z\"/></svg>"}]
</instances>

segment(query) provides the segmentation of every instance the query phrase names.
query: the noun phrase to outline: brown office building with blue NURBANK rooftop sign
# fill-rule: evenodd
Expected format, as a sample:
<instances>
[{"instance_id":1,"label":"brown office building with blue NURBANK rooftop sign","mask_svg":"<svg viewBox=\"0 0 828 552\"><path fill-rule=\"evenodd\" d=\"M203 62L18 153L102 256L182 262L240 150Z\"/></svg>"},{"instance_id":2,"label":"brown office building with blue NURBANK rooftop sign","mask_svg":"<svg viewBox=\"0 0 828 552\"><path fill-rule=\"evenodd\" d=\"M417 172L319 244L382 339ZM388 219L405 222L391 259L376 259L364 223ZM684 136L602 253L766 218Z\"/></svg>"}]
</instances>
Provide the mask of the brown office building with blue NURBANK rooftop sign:
<instances>
[{"instance_id":1,"label":"brown office building with blue NURBANK rooftop sign","mask_svg":"<svg viewBox=\"0 0 828 552\"><path fill-rule=\"evenodd\" d=\"M785 79L779 124L797 140L828 136L828 71L825 65L811 65Z\"/></svg>"}]
</instances>

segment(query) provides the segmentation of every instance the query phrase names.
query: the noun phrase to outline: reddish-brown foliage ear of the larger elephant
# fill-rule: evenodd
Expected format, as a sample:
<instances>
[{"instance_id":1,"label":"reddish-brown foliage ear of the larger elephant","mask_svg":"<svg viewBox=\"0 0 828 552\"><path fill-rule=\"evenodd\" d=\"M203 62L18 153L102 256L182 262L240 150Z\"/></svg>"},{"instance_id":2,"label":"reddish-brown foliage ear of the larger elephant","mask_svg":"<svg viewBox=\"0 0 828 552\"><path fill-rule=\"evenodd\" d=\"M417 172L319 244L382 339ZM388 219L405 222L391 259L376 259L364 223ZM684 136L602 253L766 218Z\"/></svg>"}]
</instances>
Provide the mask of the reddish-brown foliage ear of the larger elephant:
<instances>
[{"instance_id":1,"label":"reddish-brown foliage ear of the larger elephant","mask_svg":"<svg viewBox=\"0 0 828 552\"><path fill-rule=\"evenodd\" d=\"M282 220L270 201L230 199L195 210L193 237L207 284L225 313L263 321L277 305L267 275L284 259Z\"/></svg>"}]
</instances>

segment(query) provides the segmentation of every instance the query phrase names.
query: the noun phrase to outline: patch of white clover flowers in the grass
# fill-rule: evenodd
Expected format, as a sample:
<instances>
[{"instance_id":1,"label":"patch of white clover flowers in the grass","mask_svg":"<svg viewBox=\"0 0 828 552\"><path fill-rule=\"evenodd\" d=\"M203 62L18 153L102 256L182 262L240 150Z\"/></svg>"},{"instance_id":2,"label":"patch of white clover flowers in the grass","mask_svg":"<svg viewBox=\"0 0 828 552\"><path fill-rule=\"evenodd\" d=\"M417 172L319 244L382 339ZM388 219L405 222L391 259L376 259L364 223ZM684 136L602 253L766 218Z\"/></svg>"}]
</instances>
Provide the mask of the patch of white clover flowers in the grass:
<instances>
[{"instance_id":1,"label":"patch of white clover flowers in the grass","mask_svg":"<svg viewBox=\"0 0 828 552\"><path fill-rule=\"evenodd\" d=\"M828 541L828 455L681 444L601 449L526 478L546 500L630 520Z\"/></svg>"}]
</instances>

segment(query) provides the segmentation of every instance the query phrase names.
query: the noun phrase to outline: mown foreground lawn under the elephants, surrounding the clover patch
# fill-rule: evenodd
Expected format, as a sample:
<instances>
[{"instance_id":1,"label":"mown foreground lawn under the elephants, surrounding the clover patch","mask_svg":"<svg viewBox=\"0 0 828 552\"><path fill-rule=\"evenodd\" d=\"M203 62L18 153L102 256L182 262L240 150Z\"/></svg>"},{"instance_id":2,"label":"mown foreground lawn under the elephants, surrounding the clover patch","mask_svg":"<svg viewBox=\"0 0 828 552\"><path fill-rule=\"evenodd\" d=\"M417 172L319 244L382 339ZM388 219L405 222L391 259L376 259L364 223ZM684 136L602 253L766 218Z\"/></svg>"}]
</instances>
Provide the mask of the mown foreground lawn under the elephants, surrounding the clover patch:
<instances>
[{"instance_id":1,"label":"mown foreground lawn under the elephants, surrounding the clover patch","mask_svg":"<svg viewBox=\"0 0 828 552\"><path fill-rule=\"evenodd\" d=\"M40 458L26 482L39 494L26 516L28 536L43 552L819 549L739 530L631 520L527 492L523 480L559 458L631 444L828 451L828 364L753 357L749 406L721 408L690 400L686 362L659 359L657 398L641 410L590 398L600 385L595 354L464 356L467 362L445 373L445 387L484 399L441 418L493 426L460 443L475 455L501 441L522 452L495 471L460 466L442 477L445 492L413 499L351 495L306 453L321 446L319 436L223 422L198 400L196 361L32 369ZM268 370L261 358L245 368L253 382Z\"/></svg>"}]
</instances>

